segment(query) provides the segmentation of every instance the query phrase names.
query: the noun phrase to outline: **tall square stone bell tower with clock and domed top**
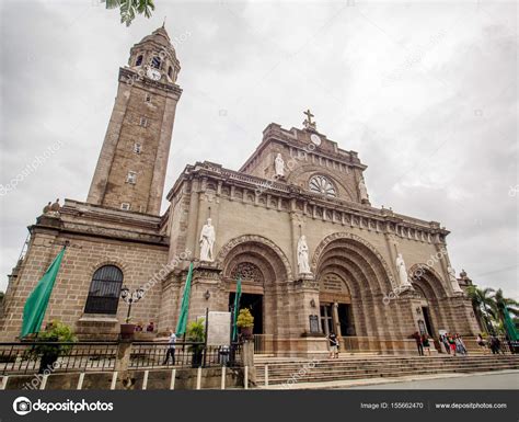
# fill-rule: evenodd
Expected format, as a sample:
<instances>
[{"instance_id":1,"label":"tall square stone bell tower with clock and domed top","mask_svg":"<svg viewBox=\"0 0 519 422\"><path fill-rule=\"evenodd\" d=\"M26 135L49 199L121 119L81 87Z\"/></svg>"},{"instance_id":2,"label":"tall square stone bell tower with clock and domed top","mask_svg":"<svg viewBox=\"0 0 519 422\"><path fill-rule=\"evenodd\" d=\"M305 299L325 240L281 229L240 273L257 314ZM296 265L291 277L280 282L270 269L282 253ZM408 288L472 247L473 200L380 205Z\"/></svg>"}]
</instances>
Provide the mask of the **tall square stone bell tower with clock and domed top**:
<instances>
[{"instance_id":1,"label":"tall square stone bell tower with clock and domed top","mask_svg":"<svg viewBox=\"0 0 519 422\"><path fill-rule=\"evenodd\" d=\"M130 49L86 202L159 215L182 89L164 26Z\"/></svg>"}]
</instances>

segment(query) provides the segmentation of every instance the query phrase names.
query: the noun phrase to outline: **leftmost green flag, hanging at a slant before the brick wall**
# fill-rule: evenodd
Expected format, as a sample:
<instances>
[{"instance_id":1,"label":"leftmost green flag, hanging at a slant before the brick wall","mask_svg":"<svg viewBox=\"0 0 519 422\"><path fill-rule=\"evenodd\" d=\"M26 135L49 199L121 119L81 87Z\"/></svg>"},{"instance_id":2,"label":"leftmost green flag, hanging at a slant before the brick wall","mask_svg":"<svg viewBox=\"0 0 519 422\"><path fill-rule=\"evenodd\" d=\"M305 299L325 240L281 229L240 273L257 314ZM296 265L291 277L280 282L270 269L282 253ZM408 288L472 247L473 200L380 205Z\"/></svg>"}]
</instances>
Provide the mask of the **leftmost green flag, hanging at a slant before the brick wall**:
<instances>
[{"instance_id":1,"label":"leftmost green flag, hanging at a slant before the brick wall","mask_svg":"<svg viewBox=\"0 0 519 422\"><path fill-rule=\"evenodd\" d=\"M65 248L54 259L44 276L39 280L36 287L34 287L34 290L27 297L23 308L23 323L20 338L39 332L64 254Z\"/></svg>"}]
</instances>

